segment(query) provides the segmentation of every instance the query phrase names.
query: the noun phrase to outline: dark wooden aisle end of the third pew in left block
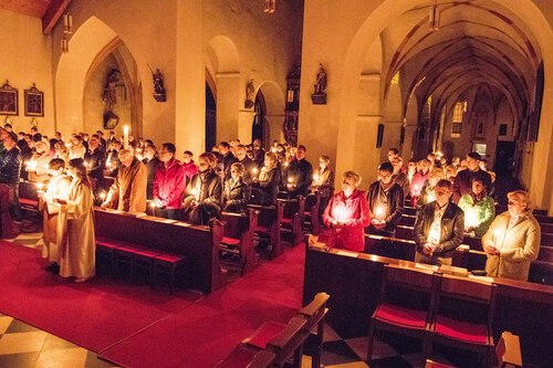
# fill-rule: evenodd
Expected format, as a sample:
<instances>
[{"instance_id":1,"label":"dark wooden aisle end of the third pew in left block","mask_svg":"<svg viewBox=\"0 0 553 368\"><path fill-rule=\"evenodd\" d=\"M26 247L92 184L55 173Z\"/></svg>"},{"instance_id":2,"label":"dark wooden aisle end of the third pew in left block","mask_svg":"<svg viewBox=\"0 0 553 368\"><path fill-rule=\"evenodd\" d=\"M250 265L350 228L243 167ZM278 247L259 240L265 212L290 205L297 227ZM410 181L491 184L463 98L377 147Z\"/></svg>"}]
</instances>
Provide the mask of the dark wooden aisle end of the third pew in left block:
<instances>
[{"instance_id":1,"label":"dark wooden aisle end of the third pew in left block","mask_svg":"<svg viewBox=\"0 0 553 368\"><path fill-rule=\"evenodd\" d=\"M280 223L284 204L281 201L276 201L275 206L249 204L248 208L259 211L258 225L254 233L260 242L268 242L271 245L271 259L282 254Z\"/></svg>"}]
</instances>

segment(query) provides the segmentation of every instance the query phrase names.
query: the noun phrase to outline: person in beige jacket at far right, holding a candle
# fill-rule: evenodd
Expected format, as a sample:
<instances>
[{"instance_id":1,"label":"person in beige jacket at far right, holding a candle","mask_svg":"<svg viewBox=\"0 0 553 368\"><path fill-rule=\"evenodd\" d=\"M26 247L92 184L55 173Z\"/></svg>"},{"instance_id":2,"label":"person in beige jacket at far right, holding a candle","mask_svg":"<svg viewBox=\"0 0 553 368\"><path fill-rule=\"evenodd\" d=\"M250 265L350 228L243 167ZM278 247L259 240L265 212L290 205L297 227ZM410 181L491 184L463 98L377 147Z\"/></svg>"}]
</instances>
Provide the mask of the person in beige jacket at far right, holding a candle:
<instances>
[{"instance_id":1,"label":"person in beige jacket at far right, holding a candle","mask_svg":"<svg viewBox=\"0 0 553 368\"><path fill-rule=\"evenodd\" d=\"M523 190L507 194L508 211L499 214L482 236L488 253L486 272L492 277L526 281L530 263L540 252L541 228Z\"/></svg>"}]
</instances>

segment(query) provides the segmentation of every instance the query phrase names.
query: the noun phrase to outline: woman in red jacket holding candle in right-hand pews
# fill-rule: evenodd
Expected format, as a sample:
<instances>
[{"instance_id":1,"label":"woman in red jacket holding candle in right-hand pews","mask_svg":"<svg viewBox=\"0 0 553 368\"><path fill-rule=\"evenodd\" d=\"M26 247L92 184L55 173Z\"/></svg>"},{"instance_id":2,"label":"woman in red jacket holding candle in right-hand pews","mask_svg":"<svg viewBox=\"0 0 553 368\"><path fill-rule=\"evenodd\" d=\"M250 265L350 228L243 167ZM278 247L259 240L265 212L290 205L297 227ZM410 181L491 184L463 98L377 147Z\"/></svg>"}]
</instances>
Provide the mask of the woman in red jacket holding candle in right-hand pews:
<instances>
[{"instance_id":1,"label":"woman in red jacket holding candle in right-hand pews","mask_svg":"<svg viewBox=\"0 0 553 368\"><path fill-rule=\"evenodd\" d=\"M342 191L334 194L323 213L324 224L331 229L331 246L356 252L365 249L364 229L371 223L365 192L358 190L361 176L346 171L342 177Z\"/></svg>"}]
</instances>

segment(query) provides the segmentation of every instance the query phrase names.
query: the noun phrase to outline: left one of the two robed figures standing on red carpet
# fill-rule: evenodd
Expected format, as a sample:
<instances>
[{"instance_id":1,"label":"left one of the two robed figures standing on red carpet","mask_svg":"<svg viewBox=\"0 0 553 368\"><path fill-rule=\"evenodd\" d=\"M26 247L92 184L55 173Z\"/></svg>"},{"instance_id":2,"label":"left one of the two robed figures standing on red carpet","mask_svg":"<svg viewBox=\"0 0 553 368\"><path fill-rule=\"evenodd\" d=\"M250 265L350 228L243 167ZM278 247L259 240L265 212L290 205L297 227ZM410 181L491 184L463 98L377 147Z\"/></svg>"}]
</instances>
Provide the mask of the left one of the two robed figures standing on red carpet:
<instances>
[{"instance_id":1,"label":"left one of the two robed figures standing on red carpet","mask_svg":"<svg viewBox=\"0 0 553 368\"><path fill-rule=\"evenodd\" d=\"M42 212L42 257L48 259L50 265L46 271L60 272L60 238L56 236L58 217L61 204L54 201L54 198L67 200L71 186L71 178L64 174L65 161L61 158L53 158L49 164L49 175L51 177L46 190L38 190L39 207Z\"/></svg>"}]
</instances>

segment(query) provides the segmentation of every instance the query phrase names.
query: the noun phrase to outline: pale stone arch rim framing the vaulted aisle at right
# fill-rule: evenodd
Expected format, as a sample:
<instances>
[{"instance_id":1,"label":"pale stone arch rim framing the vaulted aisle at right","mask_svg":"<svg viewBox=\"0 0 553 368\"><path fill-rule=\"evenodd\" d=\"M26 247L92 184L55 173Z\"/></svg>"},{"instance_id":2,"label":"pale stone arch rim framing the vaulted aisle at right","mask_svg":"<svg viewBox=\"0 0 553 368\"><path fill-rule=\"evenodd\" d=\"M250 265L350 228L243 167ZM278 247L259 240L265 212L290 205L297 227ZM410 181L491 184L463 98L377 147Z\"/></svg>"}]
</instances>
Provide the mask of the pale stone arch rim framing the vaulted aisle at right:
<instances>
[{"instance_id":1,"label":"pale stone arch rim framing the vaulted aisle at right","mask_svg":"<svg viewBox=\"0 0 553 368\"><path fill-rule=\"evenodd\" d=\"M553 32L540 11L538 6L531 0L492 0L493 3L510 9L518 14L519 19L532 33L532 39L541 49L541 54L544 60L545 67L545 86L543 101L552 101L553 98ZM340 102L337 107L337 125L338 125L338 141L337 141L337 171L345 170L351 167L351 162L356 161L356 150L351 141L355 139L355 126L357 117L357 104L352 104L356 101L358 75L362 73L362 64L365 52L369 44L375 40L380 32L395 21L397 17L407 12L409 9L419 6L420 0L384 0L377 6L371 14L365 19L363 24L353 36L341 67L343 71L342 88L340 90ZM547 98L549 97L549 98ZM540 126L540 136L535 144L535 150L543 153L541 157L547 159L534 160L532 155L528 155L524 159L524 165L532 166L530 178L530 190L532 199L539 207L550 208L552 203L553 190L551 186L546 186L546 178L553 174L553 149L549 143L553 138L553 123L549 122L545 116L553 115L553 104L544 104L542 107L542 117Z\"/></svg>"}]
</instances>

